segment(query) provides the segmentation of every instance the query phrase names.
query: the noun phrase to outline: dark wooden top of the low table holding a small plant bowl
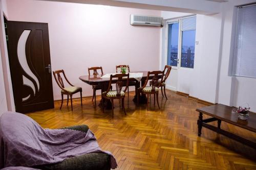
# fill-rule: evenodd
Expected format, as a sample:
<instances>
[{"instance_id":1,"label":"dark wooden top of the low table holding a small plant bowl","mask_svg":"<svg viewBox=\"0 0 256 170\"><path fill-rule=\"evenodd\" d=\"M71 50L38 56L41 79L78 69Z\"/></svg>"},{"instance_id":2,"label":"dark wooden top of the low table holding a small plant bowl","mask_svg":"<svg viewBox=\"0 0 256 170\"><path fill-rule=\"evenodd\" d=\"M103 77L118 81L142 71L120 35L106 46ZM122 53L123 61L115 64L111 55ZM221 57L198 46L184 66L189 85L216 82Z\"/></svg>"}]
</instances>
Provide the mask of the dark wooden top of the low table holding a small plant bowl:
<instances>
[{"instance_id":1,"label":"dark wooden top of the low table holding a small plant bowl","mask_svg":"<svg viewBox=\"0 0 256 170\"><path fill-rule=\"evenodd\" d=\"M252 132L256 132L256 114L249 112L247 120L240 120L238 119L238 114L234 112L236 109L236 107L216 104L199 108L197 111Z\"/></svg>"}]
</instances>

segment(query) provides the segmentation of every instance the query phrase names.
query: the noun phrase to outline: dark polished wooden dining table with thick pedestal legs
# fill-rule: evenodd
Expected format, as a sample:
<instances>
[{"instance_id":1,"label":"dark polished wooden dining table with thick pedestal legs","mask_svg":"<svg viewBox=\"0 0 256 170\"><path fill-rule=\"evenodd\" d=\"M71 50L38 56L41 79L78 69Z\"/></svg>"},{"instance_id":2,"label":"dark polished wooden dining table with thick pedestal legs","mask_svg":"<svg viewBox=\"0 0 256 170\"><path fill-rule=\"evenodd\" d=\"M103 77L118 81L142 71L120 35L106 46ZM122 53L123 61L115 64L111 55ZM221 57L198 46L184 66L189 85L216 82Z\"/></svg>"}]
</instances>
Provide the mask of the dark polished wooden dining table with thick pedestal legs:
<instances>
[{"instance_id":1,"label":"dark polished wooden dining table with thick pedestal legs","mask_svg":"<svg viewBox=\"0 0 256 170\"><path fill-rule=\"evenodd\" d=\"M136 90L135 90L135 96L133 101L137 103L137 95L139 95L139 103L145 104L147 103L146 95L145 94L137 94L137 89L140 87L140 85L144 85L147 77L148 71L136 71L136 72L143 72L143 76L140 81L137 81L134 78L130 78L129 81L135 81L136 82ZM91 75L91 76L80 76L79 79L83 81L84 83L87 83L89 85L100 85L101 93L106 91L109 87L109 81L110 78L101 78L103 75ZM149 80L153 79L153 75L149 77ZM116 80L112 80L113 83L116 82ZM112 109L112 104L110 100L104 100L105 102L102 102L102 99L100 100L99 107L104 107L104 109Z\"/></svg>"}]
</instances>

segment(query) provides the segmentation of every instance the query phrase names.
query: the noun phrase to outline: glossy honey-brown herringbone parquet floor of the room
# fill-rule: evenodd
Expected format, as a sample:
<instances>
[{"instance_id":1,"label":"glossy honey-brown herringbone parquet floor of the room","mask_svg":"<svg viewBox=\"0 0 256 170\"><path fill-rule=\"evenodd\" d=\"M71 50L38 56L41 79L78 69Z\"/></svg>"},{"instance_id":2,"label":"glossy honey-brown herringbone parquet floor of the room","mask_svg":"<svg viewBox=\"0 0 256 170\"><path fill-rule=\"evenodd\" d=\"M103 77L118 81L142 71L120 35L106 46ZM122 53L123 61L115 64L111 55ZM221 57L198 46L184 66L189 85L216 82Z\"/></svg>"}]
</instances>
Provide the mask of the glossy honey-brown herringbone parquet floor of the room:
<instances>
[{"instance_id":1,"label":"glossy honey-brown herringbone parquet floor of the room","mask_svg":"<svg viewBox=\"0 0 256 170\"><path fill-rule=\"evenodd\" d=\"M74 111L65 103L55 109L29 113L44 128L60 128L86 124L95 133L103 150L113 153L118 169L256 169L256 151L215 132L203 128L197 136L198 112L204 105L186 96L167 90L168 100L160 95L161 110L151 99L146 105L136 106L125 98L127 115L115 100L114 118L111 110L102 113L91 98L74 101ZM97 105L100 97L97 96ZM214 123L213 123L214 124ZM256 139L247 130L222 123L221 128Z\"/></svg>"}]
</instances>

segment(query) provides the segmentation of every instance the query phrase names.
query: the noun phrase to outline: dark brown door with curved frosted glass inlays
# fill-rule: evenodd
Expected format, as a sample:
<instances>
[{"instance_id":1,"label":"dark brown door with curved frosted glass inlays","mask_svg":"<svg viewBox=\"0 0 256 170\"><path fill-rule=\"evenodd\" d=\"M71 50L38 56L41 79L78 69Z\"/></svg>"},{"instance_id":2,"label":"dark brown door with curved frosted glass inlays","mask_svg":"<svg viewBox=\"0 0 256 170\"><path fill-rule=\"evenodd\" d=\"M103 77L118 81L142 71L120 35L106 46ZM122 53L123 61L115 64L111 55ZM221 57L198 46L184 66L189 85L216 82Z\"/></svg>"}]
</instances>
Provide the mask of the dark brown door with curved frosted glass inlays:
<instances>
[{"instance_id":1,"label":"dark brown door with curved frosted glass inlays","mask_svg":"<svg viewBox=\"0 0 256 170\"><path fill-rule=\"evenodd\" d=\"M48 23L7 21L16 111L54 108Z\"/></svg>"}]
</instances>

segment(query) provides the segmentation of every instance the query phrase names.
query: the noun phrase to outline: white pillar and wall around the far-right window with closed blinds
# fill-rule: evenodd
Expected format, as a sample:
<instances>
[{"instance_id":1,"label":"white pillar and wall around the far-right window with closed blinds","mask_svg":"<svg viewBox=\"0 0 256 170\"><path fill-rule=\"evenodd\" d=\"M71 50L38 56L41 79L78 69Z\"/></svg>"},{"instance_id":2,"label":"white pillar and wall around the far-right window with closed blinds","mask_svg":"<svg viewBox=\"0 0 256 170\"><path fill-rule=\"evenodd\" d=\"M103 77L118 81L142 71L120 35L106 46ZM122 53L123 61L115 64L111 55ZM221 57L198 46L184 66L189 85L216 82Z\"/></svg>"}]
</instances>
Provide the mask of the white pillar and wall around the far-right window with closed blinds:
<instances>
[{"instance_id":1,"label":"white pillar and wall around the far-right window with closed blinds","mask_svg":"<svg viewBox=\"0 0 256 170\"><path fill-rule=\"evenodd\" d=\"M252 111L256 111L256 79L230 77L229 60L232 59L232 42L234 41L234 32L236 26L236 8L234 6L256 2L255 0L232 0L224 4L223 15L223 46L222 58L220 62L220 76L218 83L218 103L226 105L240 106L243 103L248 103ZM231 51L230 51L231 49Z\"/></svg>"}]
</instances>

